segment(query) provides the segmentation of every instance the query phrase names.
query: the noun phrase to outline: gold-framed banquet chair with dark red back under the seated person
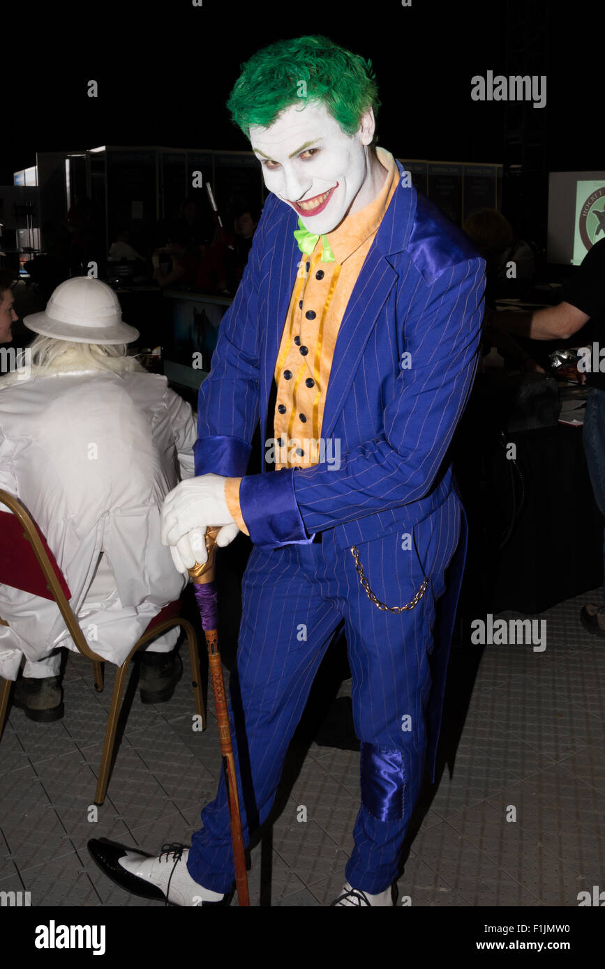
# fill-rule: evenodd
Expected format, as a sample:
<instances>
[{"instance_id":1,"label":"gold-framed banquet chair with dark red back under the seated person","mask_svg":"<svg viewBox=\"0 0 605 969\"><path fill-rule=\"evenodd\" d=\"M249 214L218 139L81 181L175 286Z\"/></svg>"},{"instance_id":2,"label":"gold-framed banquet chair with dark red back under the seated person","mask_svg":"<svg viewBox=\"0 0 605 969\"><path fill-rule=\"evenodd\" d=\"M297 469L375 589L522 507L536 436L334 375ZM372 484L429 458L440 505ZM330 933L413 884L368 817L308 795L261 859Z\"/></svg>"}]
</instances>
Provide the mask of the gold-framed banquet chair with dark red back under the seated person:
<instances>
[{"instance_id":1,"label":"gold-framed banquet chair with dark red back under the seated person","mask_svg":"<svg viewBox=\"0 0 605 969\"><path fill-rule=\"evenodd\" d=\"M80 623L69 603L72 594L66 578L57 565L54 555L48 547L47 540L34 519L27 512L25 506L17 498L7 491L0 489L0 503L10 508L13 512L12 515L9 512L0 512L0 584L10 585L23 592L29 592L32 595L41 596L44 599L56 603L80 653L92 661L95 689L101 692L104 686L103 664L105 660L102 656L97 656L90 649L84 638L80 629ZM128 665L135 653L145 643L155 639L160 633L166 632L167 629L171 629L173 626L181 626L187 635L195 708L196 713L202 717L202 730L206 730L206 707L202 693L198 640L191 623L178 614L181 608L182 599L178 599L176 602L165 606L151 620L143 636L134 644L124 663L117 668L115 683L113 685L113 695L111 697L110 715L105 732L105 742L103 744L101 766L97 780L97 789L94 797L95 804L102 804L107 794L111 759L115 744L115 733ZM0 617L0 625L8 626L10 624ZM13 681L0 677L0 683L1 737Z\"/></svg>"}]
</instances>

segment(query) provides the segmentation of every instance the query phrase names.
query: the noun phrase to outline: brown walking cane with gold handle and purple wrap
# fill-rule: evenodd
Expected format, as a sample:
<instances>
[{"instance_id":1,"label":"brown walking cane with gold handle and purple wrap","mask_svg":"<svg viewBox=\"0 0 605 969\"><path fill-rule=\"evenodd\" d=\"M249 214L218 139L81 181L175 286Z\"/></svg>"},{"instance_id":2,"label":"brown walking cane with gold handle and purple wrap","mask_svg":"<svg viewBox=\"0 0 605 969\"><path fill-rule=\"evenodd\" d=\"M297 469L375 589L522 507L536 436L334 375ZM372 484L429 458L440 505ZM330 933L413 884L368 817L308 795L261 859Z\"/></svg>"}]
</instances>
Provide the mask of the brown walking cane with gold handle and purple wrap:
<instances>
[{"instance_id":1,"label":"brown walking cane with gold handle and purple wrap","mask_svg":"<svg viewBox=\"0 0 605 969\"><path fill-rule=\"evenodd\" d=\"M212 679L214 705L216 706L216 719L218 720L218 735L220 737L221 754L223 756L225 787L227 789L227 800L229 804L229 823L231 826L231 843L233 845L234 862L236 865L238 902L239 905L249 905L250 898L248 895L248 880L246 877L245 857L243 854L241 817L239 815L236 761L234 758L233 744L231 742L231 731L229 729L229 713L227 712L227 698L225 696L223 668L221 666L221 658L218 651L218 610L216 583L214 581L214 554L216 552L216 544L214 540L219 531L219 528L207 528L207 562L205 565L200 565L199 562L196 562L193 568L189 569L189 575L194 582L193 590L198 601L198 606L200 607L202 628L204 629L204 635L206 636L208 663L210 667L210 677Z\"/></svg>"}]
</instances>

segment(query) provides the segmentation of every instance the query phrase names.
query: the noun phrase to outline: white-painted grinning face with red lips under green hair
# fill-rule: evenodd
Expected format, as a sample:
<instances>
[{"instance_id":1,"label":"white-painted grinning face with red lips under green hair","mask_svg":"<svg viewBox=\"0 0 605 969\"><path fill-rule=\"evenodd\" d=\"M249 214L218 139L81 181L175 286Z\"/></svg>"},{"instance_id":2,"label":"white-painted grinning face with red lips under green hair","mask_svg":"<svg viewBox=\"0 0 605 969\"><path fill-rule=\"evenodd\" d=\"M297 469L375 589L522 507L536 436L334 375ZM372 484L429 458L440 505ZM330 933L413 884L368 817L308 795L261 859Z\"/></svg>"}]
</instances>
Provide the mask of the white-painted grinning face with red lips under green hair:
<instances>
[{"instance_id":1,"label":"white-painted grinning face with red lips under green hair","mask_svg":"<svg viewBox=\"0 0 605 969\"><path fill-rule=\"evenodd\" d=\"M269 128L252 125L250 142L269 191L295 210L308 232L323 235L376 195L367 147L373 134L371 110L349 136L323 104L306 102L283 110Z\"/></svg>"}]
</instances>

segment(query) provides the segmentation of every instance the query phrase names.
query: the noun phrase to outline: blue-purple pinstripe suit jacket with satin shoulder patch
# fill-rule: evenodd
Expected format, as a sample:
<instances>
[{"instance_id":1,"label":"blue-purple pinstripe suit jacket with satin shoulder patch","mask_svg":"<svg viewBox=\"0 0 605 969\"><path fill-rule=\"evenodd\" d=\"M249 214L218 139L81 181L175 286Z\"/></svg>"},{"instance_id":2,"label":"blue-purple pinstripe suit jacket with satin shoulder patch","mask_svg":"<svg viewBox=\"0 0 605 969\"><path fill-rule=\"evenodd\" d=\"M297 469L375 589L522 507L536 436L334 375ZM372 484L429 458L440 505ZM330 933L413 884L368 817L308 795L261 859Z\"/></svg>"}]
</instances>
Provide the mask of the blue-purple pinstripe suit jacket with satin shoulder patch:
<instances>
[{"instance_id":1,"label":"blue-purple pinstripe suit jacket with satin shoulder patch","mask_svg":"<svg viewBox=\"0 0 605 969\"><path fill-rule=\"evenodd\" d=\"M271 195L200 389L196 475L245 476L259 419L265 449L301 259L297 228L296 213ZM409 531L446 500L455 487L448 447L478 359L484 270L467 236L399 181L334 349L322 437L339 439L339 467L270 471L263 459L263 473L245 476L239 491L256 545L308 543L334 529L348 547Z\"/></svg>"}]
</instances>

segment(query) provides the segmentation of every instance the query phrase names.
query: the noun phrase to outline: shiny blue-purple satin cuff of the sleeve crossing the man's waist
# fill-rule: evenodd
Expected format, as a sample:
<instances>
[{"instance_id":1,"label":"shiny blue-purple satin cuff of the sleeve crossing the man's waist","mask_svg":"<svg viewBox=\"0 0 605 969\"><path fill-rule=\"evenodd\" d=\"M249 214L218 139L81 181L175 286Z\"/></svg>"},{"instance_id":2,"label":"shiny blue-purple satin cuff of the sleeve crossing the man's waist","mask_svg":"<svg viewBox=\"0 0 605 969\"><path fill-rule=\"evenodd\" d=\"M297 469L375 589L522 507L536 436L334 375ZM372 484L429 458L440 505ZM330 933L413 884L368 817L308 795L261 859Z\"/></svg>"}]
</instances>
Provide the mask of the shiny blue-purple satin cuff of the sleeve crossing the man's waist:
<instances>
[{"instance_id":1,"label":"shiny blue-purple satin cuff of the sleeve crossing the man's waist","mask_svg":"<svg viewBox=\"0 0 605 969\"><path fill-rule=\"evenodd\" d=\"M313 541L315 536L309 538L306 534L294 493L296 470L284 468L262 475L246 475L241 480L240 514L254 545L279 548L309 545Z\"/></svg>"}]
</instances>

